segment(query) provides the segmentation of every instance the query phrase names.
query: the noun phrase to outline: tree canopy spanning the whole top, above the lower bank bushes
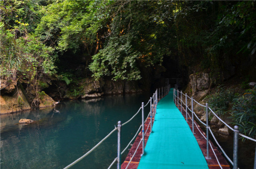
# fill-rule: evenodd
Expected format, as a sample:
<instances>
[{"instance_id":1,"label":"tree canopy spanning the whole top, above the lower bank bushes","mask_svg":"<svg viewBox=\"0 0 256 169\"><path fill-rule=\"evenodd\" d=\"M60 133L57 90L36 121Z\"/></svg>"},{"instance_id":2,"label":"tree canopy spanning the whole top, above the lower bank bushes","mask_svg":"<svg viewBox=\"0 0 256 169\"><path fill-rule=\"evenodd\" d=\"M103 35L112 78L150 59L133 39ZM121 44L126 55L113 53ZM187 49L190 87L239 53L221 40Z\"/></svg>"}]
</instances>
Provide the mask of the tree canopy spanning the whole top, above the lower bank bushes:
<instances>
[{"instance_id":1,"label":"tree canopy spanning the whole top, above the lower bank bushes","mask_svg":"<svg viewBox=\"0 0 256 169\"><path fill-rule=\"evenodd\" d=\"M3 0L1 48L7 57L34 39L50 54L45 73L67 52L82 53L96 78L138 80L173 53L183 65L222 71L255 58L255 15L254 1Z\"/></svg>"}]
</instances>

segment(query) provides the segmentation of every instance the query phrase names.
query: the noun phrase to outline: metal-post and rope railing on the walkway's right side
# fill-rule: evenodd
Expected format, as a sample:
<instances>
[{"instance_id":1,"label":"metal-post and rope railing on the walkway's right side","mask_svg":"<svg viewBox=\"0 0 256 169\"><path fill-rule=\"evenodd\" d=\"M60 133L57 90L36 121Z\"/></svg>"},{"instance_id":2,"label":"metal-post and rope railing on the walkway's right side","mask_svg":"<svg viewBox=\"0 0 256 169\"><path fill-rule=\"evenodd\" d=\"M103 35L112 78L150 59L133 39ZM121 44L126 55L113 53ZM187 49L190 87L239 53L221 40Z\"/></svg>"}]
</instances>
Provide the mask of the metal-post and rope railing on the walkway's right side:
<instances>
[{"instance_id":1,"label":"metal-post and rope railing on the walkway's right side","mask_svg":"<svg viewBox=\"0 0 256 169\"><path fill-rule=\"evenodd\" d=\"M185 96L185 103L182 100L182 95ZM196 116L196 118L198 119L198 121L200 123L202 123L204 126L206 126L206 137L204 136L203 133L201 133L201 131L198 129L198 131L203 135L204 139L206 139L206 151L207 151L207 156L205 157L206 159L211 159L211 157L209 156L209 145L214 153L215 158L217 159L217 156L215 155L215 152L212 148L211 143L209 142L209 131L213 137L213 139L215 140L215 142L217 143L217 145L219 146L220 150L222 151L222 153L224 154L224 156L228 159L228 161L233 165L233 169L239 169L238 168L238 136L241 137L245 137L246 139L252 140L254 142L256 142L255 139L245 136L243 134L241 134L238 130L238 126L234 126L234 128L232 128L231 126L229 126L227 123L225 123L225 121L223 121L219 116L216 115L216 113L214 113L214 111L212 111L212 109L210 107L208 107L208 104L206 103L205 105L200 104L199 102L197 102L196 100L193 99L193 97L188 97L187 94L183 94L182 91L179 91L178 89L174 88L173 89L173 98L174 98L174 102L175 105L177 105L177 107L181 109L181 113L182 113L182 106L184 105L186 107L186 121L188 121L188 116L191 118L192 120L192 132L194 134L194 116ZM188 107L188 99L190 99L191 101L191 109ZM205 107L206 108L206 123L203 123L203 121L201 121L198 116L196 115L196 113L194 113L194 103L200 105L201 107ZM190 113L188 113L188 110L191 112L191 116ZM225 153L225 151L223 150L223 148L220 146L219 142L217 141L217 139L215 138L210 126L209 126L209 118L208 118L208 110L210 110L212 112L212 114L214 116L216 116L223 124L225 124L225 126L227 126L230 130L232 130L234 132L234 139L233 139L233 161L227 156L227 154ZM195 125L196 128L198 128L197 125ZM222 166L219 163L219 160L217 159L217 162L220 166L220 168L222 169ZM253 169L256 169L256 150L255 150L255 156L254 156L254 167Z\"/></svg>"}]
</instances>

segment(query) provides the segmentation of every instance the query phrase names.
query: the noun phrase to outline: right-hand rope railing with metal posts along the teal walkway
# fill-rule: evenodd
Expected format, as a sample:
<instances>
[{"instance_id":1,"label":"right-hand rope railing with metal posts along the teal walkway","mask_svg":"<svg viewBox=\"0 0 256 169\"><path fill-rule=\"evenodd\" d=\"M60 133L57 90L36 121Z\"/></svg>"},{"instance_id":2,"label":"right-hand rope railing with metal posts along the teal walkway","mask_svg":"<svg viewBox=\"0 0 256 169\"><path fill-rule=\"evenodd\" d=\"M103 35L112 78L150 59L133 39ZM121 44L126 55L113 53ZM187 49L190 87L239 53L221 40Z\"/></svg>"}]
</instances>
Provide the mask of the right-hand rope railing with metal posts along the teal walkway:
<instances>
[{"instance_id":1,"label":"right-hand rope railing with metal posts along the teal walkway","mask_svg":"<svg viewBox=\"0 0 256 169\"><path fill-rule=\"evenodd\" d=\"M178 105L178 106L179 106L179 105L182 106L182 104L185 105L186 111L187 111L187 109L188 109L188 110L192 113L192 119L191 119L191 120L192 120L193 133L194 133L194 124L196 124L196 123L193 121L193 115L196 116L196 118L198 119L198 121L200 121L200 123L202 123L202 124L204 124L204 126L206 126L206 137L205 137L204 134L199 130L198 126L195 125L195 126L198 128L198 131L199 131L199 132L202 134L202 136L207 140L207 142L206 142L206 143L207 143L207 157L206 157L206 159L209 158L209 148L208 148L209 144L210 144L210 147L211 147L211 149L212 149L212 151L213 151L213 153L214 153L214 156L215 156L216 159L217 159L217 156L216 156L216 154L215 154L215 152L214 152L214 150L213 150L213 148L212 148L212 145L211 145L211 143L208 141L208 137L209 137L209 136L208 136L208 131L210 131L210 133L211 133L213 139L215 140L215 142L216 142L217 145L219 146L219 148L220 148L220 150L222 151L222 153L224 154L224 156L225 156L225 157L228 159L228 161L233 165L233 169L239 169L238 166L237 166L237 159L238 159L238 136L244 137L244 138L249 139L249 140L254 141L254 142L256 142L256 139L253 139L253 138L251 138L251 137L248 137L248 136L245 136L245 135L239 133L239 131L238 131L238 126L235 126L234 129L233 129L231 126L229 126L227 123L225 123L225 121L223 121L221 118L219 118L219 116L217 116L216 113L214 113L214 111L212 111L212 109L211 109L210 107L208 107L208 104L202 105L202 104L200 104L199 102L197 102L196 100L194 100L193 97L190 98L189 96L187 96L187 94L183 94L182 91L178 91L178 90L176 90L176 89L174 89L173 91L174 91L174 96L173 96L173 98L175 99L175 102L176 102L176 100L177 100L177 105ZM183 102L182 97L179 97L179 94L178 94L178 93L181 93L181 94L183 94L183 95L186 96L186 104ZM177 94L177 96L176 96L176 94ZM188 99L188 98L191 100L191 109L192 109L192 110L191 110L191 109L188 107L188 105L187 105L187 99ZM200 105L200 106L202 106L202 107L206 107L206 124L203 123L203 121L201 121L201 120L198 118L198 116L193 112L193 101L196 102L198 105ZM180 104L179 104L179 102L180 102ZM222 123L224 123L225 126L227 126L230 130L232 130L232 131L234 132L233 161L227 156L227 154L225 153L225 151L223 150L223 148L220 146L219 142L217 142L217 139L215 138L215 136L214 136L214 134L213 134L211 128L210 128L209 125L208 125L208 121L209 121L209 120L208 120L208 109L214 114L214 116L216 116ZM181 110L182 110L182 107L181 107ZM191 118L191 116L190 116L190 114L189 114L188 112L186 112L186 114L189 115L189 117ZM218 159L217 159L217 162L218 162L220 168L222 169L222 166L220 165ZM254 158L254 167L255 167L255 166L256 166L256 155L255 155L255 158Z\"/></svg>"}]
</instances>

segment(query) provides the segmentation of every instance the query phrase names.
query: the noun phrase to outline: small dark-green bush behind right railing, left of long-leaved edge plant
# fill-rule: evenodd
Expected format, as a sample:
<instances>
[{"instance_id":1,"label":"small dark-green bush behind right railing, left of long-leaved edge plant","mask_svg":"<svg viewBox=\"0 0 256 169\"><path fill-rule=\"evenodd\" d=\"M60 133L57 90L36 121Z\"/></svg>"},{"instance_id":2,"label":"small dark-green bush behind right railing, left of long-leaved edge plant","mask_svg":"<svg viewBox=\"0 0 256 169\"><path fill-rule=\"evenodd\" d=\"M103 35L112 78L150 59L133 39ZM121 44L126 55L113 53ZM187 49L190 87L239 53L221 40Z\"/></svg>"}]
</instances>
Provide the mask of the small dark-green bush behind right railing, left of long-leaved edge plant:
<instances>
[{"instance_id":1,"label":"small dark-green bush behind right railing, left of long-leaved edge plant","mask_svg":"<svg viewBox=\"0 0 256 169\"><path fill-rule=\"evenodd\" d=\"M215 113L225 115L230 110L235 97L236 95L232 89L219 86L217 91L208 97L208 104Z\"/></svg>"}]
</instances>

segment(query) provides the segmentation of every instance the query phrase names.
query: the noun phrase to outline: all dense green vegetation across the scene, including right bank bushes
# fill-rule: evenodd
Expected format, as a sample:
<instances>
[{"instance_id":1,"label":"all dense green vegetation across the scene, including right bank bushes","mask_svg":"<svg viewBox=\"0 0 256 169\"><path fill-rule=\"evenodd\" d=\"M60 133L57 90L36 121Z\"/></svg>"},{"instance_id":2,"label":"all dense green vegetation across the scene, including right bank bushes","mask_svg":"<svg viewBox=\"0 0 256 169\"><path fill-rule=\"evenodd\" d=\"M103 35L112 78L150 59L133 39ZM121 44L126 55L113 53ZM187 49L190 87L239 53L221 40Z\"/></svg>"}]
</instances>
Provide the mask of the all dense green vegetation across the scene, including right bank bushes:
<instances>
[{"instance_id":1,"label":"all dense green vegetation across the scene, including right bank bushes","mask_svg":"<svg viewBox=\"0 0 256 169\"><path fill-rule=\"evenodd\" d=\"M214 85L233 76L247 84L256 80L255 8L255 1L2 0L1 80L28 84L36 99L47 78L79 80L75 63L83 77L139 80L172 58L188 73L208 72ZM223 110L255 136L256 92L245 89Z\"/></svg>"}]
</instances>

